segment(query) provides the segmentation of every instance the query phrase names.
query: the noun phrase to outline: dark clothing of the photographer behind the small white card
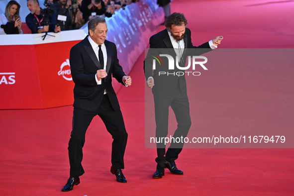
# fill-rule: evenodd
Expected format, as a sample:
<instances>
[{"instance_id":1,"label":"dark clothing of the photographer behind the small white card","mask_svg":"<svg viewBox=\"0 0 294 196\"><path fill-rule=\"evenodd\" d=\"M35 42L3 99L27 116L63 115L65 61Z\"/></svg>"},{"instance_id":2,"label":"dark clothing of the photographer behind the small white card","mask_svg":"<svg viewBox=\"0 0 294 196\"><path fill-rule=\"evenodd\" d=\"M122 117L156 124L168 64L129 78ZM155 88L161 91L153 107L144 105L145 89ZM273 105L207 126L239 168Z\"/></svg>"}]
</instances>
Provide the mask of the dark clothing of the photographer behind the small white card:
<instances>
[{"instance_id":1,"label":"dark clothing of the photographer behind the small white card","mask_svg":"<svg viewBox=\"0 0 294 196\"><path fill-rule=\"evenodd\" d=\"M66 16L66 21L58 20L58 24L60 25L60 29L62 31L71 30L72 29L72 19L71 19L72 17L71 17L71 13L70 13L69 9L66 9L65 5L62 8L61 4L59 4L58 1L56 1L55 3L50 5L50 8L53 9L54 17L56 20L58 18L58 15L65 15Z\"/></svg>"}]
</instances>

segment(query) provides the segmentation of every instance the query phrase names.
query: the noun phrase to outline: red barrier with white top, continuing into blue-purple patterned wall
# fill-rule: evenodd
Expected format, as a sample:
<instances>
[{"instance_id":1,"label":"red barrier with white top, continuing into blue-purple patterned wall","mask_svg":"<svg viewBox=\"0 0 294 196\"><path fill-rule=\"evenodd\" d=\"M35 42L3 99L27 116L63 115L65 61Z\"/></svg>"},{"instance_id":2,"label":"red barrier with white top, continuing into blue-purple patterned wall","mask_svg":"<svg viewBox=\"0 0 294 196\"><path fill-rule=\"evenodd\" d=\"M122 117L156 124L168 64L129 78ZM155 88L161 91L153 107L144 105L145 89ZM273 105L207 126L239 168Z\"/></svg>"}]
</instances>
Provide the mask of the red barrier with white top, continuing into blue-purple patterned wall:
<instances>
[{"instance_id":1,"label":"red barrier with white top, continuing into blue-purple patterned wall","mask_svg":"<svg viewBox=\"0 0 294 196\"><path fill-rule=\"evenodd\" d=\"M154 0L140 0L105 18L107 40L117 46L128 74L164 18ZM48 108L73 103L69 53L88 29L41 34L0 35L0 109ZM121 86L113 82L115 90Z\"/></svg>"}]
</instances>

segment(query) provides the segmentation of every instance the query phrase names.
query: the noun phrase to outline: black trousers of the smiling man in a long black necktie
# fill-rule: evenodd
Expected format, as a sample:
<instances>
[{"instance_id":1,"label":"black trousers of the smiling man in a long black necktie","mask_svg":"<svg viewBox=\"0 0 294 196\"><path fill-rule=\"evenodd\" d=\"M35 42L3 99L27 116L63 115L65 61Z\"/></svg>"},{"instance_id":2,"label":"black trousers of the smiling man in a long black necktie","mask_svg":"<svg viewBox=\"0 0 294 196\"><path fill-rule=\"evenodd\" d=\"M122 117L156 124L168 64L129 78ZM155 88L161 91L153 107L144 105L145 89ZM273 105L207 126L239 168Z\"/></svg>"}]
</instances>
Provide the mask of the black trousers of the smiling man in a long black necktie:
<instances>
[{"instance_id":1,"label":"black trousers of the smiling man in a long black necktie","mask_svg":"<svg viewBox=\"0 0 294 196\"><path fill-rule=\"evenodd\" d=\"M95 112L90 112L76 107L74 108L73 130L71 132L68 147L71 177L79 177L85 173L82 166L85 134L92 119L96 115L99 115L102 119L107 131L113 138L111 152L112 167L114 169L124 169L123 156L128 134L125 130L120 109L114 111L108 96L104 95L98 110Z\"/></svg>"}]
</instances>

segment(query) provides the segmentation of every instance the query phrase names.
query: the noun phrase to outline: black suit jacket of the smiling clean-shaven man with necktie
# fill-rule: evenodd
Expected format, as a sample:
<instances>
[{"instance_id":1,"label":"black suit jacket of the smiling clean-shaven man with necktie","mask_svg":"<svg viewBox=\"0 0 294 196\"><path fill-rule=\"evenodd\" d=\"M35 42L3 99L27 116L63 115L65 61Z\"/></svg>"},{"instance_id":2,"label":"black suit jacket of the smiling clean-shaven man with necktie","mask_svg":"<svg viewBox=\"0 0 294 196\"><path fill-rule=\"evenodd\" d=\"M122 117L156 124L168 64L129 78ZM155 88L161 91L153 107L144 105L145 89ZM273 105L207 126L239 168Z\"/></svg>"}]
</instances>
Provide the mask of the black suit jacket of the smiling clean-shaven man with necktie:
<instances>
[{"instance_id":1,"label":"black suit jacket of the smiling clean-shaven man with necktie","mask_svg":"<svg viewBox=\"0 0 294 196\"><path fill-rule=\"evenodd\" d=\"M110 41L104 41L107 51L107 77L102 79L101 85L97 85L95 75L98 68L103 69L103 66L100 65L88 36L73 46L70 52L71 74L75 83L74 107L96 111L106 89L112 108L116 111L120 107L112 87L111 75L121 84L122 77L125 76L118 63L116 46Z\"/></svg>"}]
</instances>

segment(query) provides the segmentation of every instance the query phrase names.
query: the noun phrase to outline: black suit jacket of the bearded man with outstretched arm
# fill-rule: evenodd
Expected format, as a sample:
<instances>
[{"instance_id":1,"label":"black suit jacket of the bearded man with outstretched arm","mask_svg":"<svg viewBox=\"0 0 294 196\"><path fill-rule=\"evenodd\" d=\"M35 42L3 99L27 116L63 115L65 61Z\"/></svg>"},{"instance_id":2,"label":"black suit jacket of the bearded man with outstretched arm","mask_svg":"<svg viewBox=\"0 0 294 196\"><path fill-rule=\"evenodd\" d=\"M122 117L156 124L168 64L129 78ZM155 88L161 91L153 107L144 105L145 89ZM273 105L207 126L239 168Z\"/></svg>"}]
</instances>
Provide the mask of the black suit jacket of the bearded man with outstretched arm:
<instances>
[{"instance_id":1,"label":"black suit jacket of the bearded man with outstretched arm","mask_svg":"<svg viewBox=\"0 0 294 196\"><path fill-rule=\"evenodd\" d=\"M191 55L187 52L187 48L197 48L195 51L196 53L193 55L200 55L205 52L211 51L211 48L208 44L208 42L200 45L200 46L193 46L192 40L191 40L191 31L189 28L186 28L185 34L184 34L184 42L185 42L185 50L183 52L183 59L184 59L184 65L186 63L187 56ZM150 37L149 40L150 44L150 50L148 51L147 57L144 61L144 71L145 71L145 78L146 80L149 77L153 77L154 79L154 87L152 88L152 93L155 96L159 97L174 97L176 94L176 89L179 84L180 90L182 94L187 93L187 85L186 85L186 78L184 76L174 76L173 74L170 75L160 75L159 72L178 72L183 71L179 70L175 66L175 70L169 70L168 69L168 60L167 58L161 58L163 61L163 66L156 66L156 69L152 69L152 63L153 63L153 54L157 53L169 53L171 56L175 57L176 53L173 48L171 39L169 37L168 31L165 29L163 31L158 32L157 34ZM185 72L185 70L184 70Z\"/></svg>"}]
</instances>

